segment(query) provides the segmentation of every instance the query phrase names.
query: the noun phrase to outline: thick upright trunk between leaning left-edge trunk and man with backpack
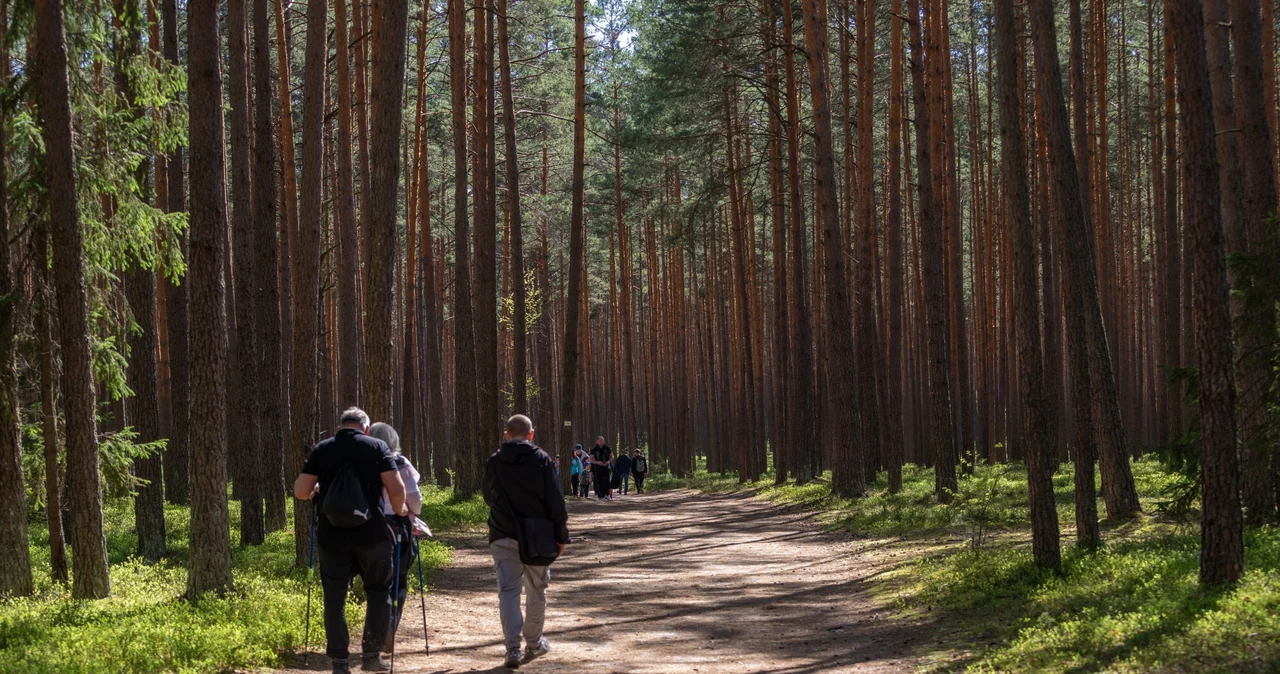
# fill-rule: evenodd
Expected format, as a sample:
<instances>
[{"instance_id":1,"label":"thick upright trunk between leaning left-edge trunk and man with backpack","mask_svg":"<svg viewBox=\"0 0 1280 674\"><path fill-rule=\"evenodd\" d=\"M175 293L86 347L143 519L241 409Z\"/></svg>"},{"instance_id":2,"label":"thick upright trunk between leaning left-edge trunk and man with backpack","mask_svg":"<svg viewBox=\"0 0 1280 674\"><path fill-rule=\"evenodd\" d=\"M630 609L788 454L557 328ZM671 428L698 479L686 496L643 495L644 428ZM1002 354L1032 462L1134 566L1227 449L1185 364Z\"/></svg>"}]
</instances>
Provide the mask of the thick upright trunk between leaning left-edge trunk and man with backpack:
<instances>
[{"instance_id":1,"label":"thick upright trunk between leaning left-edge trunk and man with backpack","mask_svg":"<svg viewBox=\"0 0 1280 674\"><path fill-rule=\"evenodd\" d=\"M227 505L227 302L219 243L227 229L227 160L223 74L216 0L188 4L191 109L191 560L192 599L232 587L230 518Z\"/></svg>"}]
</instances>

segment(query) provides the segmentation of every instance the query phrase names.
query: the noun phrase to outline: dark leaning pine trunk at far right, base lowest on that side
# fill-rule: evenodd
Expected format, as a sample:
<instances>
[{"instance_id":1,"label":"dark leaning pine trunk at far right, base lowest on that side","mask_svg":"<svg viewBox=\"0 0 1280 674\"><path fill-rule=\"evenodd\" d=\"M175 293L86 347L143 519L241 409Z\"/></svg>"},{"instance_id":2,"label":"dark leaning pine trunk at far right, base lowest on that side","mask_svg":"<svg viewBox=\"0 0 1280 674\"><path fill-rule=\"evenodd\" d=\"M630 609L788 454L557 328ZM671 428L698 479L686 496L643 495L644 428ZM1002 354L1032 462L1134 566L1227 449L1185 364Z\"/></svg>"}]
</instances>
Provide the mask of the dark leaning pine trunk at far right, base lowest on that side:
<instances>
[{"instance_id":1,"label":"dark leaning pine trunk at far right, base lowest on that side","mask_svg":"<svg viewBox=\"0 0 1280 674\"><path fill-rule=\"evenodd\" d=\"M1234 583L1244 572L1235 382L1226 253L1220 208L1217 139L1199 0L1172 0L1169 38L1178 63L1187 162L1187 226L1194 265L1196 356L1199 364L1201 584Z\"/></svg>"}]
</instances>

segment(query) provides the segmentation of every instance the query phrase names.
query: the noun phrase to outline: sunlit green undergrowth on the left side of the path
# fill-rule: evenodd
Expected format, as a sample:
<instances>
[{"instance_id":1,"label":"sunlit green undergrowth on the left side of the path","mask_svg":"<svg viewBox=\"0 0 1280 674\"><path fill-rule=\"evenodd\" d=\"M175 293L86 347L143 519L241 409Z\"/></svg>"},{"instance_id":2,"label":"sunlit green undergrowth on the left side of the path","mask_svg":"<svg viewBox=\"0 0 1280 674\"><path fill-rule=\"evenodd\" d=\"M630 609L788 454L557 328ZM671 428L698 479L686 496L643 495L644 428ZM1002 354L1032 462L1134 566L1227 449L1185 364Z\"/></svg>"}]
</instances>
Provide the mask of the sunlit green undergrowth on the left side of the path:
<instances>
[{"instance_id":1,"label":"sunlit green undergrowth on the left side of the path","mask_svg":"<svg viewBox=\"0 0 1280 674\"><path fill-rule=\"evenodd\" d=\"M424 519L433 528L484 522L475 499L456 501L445 490L424 489ZM49 576L44 521L31 523L35 596L0 602L0 674L29 671L230 671L274 666L303 647L307 570L293 567L292 532L275 532L261 546L238 545L239 506L232 501L234 590L225 597L182 597L186 588L189 509L166 506L169 556L156 564L133 558L132 500L109 501L104 513L111 564L111 597L73 600ZM451 549L422 544L424 569L448 563ZM311 648L323 650L319 581L312 587ZM415 581L416 583L416 581ZM360 624L355 601L348 618Z\"/></svg>"}]
</instances>

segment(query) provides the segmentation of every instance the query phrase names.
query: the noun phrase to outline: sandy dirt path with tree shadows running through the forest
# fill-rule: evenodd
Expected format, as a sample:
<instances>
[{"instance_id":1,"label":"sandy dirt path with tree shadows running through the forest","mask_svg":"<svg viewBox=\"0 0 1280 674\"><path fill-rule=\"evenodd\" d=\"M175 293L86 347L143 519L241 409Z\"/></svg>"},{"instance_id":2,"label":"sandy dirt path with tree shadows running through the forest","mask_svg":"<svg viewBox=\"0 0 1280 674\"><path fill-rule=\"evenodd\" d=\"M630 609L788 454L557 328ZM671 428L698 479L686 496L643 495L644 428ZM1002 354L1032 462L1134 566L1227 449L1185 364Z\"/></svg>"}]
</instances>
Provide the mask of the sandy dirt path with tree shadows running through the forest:
<instances>
[{"instance_id":1,"label":"sandy dirt path with tree shadows running through the forest","mask_svg":"<svg viewBox=\"0 0 1280 674\"><path fill-rule=\"evenodd\" d=\"M927 629L891 620L870 592L902 558L823 532L810 513L746 495L669 491L573 500L570 532L572 544L552 567L552 652L520 671L805 674L919 665L913 651ZM422 654L413 596L396 670L508 671L499 666L486 538L476 532L449 542L457 551L428 593L431 652ZM312 657L312 666L316 660L324 657Z\"/></svg>"}]
</instances>

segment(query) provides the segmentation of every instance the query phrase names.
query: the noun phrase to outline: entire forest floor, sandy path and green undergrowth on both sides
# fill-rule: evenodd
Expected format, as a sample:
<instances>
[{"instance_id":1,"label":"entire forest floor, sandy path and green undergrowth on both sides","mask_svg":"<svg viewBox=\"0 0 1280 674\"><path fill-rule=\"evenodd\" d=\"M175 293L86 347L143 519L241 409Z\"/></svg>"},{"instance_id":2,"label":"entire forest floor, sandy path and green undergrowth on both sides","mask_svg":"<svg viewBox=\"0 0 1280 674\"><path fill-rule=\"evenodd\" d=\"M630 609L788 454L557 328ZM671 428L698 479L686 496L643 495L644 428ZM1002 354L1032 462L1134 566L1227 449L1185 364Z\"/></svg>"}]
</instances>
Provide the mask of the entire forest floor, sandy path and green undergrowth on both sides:
<instances>
[{"instance_id":1,"label":"entire forest floor, sandy path and green undergrowth on both sides","mask_svg":"<svg viewBox=\"0 0 1280 674\"><path fill-rule=\"evenodd\" d=\"M1144 514L1103 522L1103 546L1073 545L1073 476L1053 485L1064 570L1030 559L1025 474L979 466L951 504L928 468L868 495L829 483L739 483L699 471L654 474L650 494L570 500L572 545L552 570L550 655L529 671L786 674L826 671L1280 671L1280 529L1247 532L1248 572L1228 591L1197 584L1198 514L1162 512L1176 478L1134 463ZM472 498L428 489L438 540L424 545L430 654L416 578L398 671L504 671L492 559ZM1100 504L1100 512L1103 508ZM0 602L0 674L18 671L323 671L302 668L306 572L288 531L234 546L236 590L182 599L187 508L168 506L169 556L132 556L132 504L109 500L113 596L79 601L49 578L32 522L37 593ZM232 501L233 542L238 505ZM319 583L310 652L323 654ZM358 634L364 606L348 605Z\"/></svg>"}]
</instances>

